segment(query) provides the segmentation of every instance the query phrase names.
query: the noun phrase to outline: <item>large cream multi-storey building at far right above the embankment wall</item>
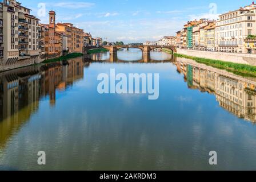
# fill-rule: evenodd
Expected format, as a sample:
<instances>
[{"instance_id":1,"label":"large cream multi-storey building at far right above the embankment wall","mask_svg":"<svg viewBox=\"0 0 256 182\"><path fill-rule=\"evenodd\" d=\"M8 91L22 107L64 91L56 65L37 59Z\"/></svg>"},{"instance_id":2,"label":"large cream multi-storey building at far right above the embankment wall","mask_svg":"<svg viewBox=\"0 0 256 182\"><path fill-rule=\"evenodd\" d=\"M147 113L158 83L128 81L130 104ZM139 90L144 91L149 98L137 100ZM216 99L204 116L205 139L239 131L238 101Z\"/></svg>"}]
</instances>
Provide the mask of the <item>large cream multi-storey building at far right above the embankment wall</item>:
<instances>
[{"instance_id":1,"label":"large cream multi-storey building at far right above the embankment wall","mask_svg":"<svg viewBox=\"0 0 256 182\"><path fill-rule=\"evenodd\" d=\"M217 51L246 53L245 39L255 35L256 5L241 7L219 15L216 22Z\"/></svg>"}]
</instances>

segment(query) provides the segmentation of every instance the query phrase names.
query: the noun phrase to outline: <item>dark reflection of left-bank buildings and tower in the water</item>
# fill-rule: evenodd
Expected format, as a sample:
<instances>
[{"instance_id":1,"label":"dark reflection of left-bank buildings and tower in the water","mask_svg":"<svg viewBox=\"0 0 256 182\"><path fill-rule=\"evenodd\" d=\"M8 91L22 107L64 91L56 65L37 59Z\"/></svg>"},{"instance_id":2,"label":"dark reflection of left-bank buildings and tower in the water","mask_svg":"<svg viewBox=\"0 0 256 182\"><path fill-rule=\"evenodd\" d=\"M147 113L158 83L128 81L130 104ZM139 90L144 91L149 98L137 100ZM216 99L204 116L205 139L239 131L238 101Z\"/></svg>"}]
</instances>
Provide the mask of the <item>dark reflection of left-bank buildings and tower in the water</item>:
<instances>
[{"instance_id":1,"label":"dark reflection of left-bank buildings and tower in the water","mask_svg":"<svg viewBox=\"0 0 256 182\"><path fill-rule=\"evenodd\" d=\"M38 110L41 97L49 94L53 105L56 89L82 77L82 58L0 73L0 148Z\"/></svg>"}]
</instances>

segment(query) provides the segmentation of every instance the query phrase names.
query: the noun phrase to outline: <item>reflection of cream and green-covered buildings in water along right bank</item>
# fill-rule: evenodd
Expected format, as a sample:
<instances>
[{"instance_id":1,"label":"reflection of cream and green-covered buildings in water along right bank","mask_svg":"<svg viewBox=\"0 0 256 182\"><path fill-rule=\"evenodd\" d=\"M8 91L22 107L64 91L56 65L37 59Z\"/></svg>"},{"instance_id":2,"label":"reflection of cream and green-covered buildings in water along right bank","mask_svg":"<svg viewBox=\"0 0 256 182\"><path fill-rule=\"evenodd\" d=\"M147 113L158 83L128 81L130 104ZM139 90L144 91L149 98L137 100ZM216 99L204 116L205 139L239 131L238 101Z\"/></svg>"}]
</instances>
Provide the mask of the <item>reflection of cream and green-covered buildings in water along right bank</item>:
<instances>
[{"instance_id":1,"label":"reflection of cream and green-covered buildings in water along right bank","mask_svg":"<svg viewBox=\"0 0 256 182\"><path fill-rule=\"evenodd\" d=\"M178 63L180 62L180 63ZM231 73L224 74L218 69L201 64L187 64L177 61L178 71L184 75L184 65L187 69L187 85L201 92L214 93L219 105L239 118L256 122L256 82L239 78ZM208 69L209 70L208 70Z\"/></svg>"}]
</instances>

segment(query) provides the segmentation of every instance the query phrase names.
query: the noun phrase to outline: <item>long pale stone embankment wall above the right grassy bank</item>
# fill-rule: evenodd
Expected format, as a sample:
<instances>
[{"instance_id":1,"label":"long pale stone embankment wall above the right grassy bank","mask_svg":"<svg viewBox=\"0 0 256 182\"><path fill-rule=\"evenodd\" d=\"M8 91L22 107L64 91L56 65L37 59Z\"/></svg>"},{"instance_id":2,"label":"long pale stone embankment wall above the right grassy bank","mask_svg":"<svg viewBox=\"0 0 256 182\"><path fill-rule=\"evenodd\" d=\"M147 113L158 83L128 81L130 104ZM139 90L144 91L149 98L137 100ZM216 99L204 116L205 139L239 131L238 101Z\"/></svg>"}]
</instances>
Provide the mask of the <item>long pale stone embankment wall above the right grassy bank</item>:
<instances>
[{"instance_id":1,"label":"long pale stone embankment wall above the right grassy bank","mask_svg":"<svg viewBox=\"0 0 256 182\"><path fill-rule=\"evenodd\" d=\"M229 53L229 52L210 52L210 51L195 51L189 49L177 49L177 53L202 57L206 59L215 59L221 61L228 61L233 63L256 65L256 55L247 53Z\"/></svg>"}]
</instances>

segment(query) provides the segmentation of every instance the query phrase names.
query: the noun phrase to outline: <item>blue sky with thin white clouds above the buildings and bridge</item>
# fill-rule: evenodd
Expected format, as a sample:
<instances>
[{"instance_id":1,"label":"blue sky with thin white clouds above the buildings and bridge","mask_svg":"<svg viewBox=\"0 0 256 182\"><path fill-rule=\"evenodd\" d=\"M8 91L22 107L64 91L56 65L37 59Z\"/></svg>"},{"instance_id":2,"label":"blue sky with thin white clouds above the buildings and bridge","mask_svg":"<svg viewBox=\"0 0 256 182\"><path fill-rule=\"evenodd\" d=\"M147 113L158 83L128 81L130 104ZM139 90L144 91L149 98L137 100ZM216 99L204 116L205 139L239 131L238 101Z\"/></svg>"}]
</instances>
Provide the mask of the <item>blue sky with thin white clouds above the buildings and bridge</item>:
<instances>
[{"instance_id":1,"label":"blue sky with thin white clouds above the buildings and bridge","mask_svg":"<svg viewBox=\"0 0 256 182\"><path fill-rule=\"evenodd\" d=\"M250 5L247 0L19 0L31 14L48 22L49 10L58 22L70 22L107 41L145 42L174 35L187 20L217 18L218 14ZM42 13L45 4L46 14Z\"/></svg>"}]
</instances>

